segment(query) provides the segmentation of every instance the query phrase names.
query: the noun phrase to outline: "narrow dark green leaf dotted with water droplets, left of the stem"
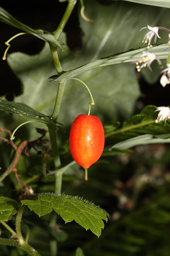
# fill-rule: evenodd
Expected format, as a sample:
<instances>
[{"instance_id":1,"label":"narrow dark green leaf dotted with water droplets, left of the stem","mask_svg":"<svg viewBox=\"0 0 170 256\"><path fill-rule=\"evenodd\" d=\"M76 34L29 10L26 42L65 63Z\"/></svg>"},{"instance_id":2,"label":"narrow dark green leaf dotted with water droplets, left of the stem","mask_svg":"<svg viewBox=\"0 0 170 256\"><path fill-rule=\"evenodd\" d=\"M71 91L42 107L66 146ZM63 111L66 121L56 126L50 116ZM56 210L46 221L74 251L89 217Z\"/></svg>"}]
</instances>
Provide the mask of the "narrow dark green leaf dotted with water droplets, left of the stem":
<instances>
[{"instance_id":1,"label":"narrow dark green leaf dotted with water droplets, left of the stem","mask_svg":"<svg viewBox=\"0 0 170 256\"><path fill-rule=\"evenodd\" d=\"M34 110L33 108L27 106L24 103L16 103L16 102L0 99L0 110L10 112L10 113L15 113L15 114L18 114L19 116L28 117L38 122L50 125L53 128L56 128L55 123L50 121L50 118Z\"/></svg>"}]
</instances>

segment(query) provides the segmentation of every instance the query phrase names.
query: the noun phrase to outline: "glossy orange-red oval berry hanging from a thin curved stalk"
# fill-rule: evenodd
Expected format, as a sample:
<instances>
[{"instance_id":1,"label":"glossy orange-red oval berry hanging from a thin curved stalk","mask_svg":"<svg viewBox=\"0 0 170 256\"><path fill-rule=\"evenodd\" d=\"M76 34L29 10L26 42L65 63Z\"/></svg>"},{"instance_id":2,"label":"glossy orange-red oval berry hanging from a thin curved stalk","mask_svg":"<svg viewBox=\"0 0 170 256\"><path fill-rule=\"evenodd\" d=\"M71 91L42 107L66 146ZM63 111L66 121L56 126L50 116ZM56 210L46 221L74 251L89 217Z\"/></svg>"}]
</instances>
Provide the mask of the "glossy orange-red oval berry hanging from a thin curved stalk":
<instances>
[{"instance_id":1,"label":"glossy orange-red oval berry hanging from a thin curved stalk","mask_svg":"<svg viewBox=\"0 0 170 256\"><path fill-rule=\"evenodd\" d=\"M101 156L104 148L104 129L96 116L80 114L75 118L69 137L73 159L89 168Z\"/></svg>"}]
</instances>

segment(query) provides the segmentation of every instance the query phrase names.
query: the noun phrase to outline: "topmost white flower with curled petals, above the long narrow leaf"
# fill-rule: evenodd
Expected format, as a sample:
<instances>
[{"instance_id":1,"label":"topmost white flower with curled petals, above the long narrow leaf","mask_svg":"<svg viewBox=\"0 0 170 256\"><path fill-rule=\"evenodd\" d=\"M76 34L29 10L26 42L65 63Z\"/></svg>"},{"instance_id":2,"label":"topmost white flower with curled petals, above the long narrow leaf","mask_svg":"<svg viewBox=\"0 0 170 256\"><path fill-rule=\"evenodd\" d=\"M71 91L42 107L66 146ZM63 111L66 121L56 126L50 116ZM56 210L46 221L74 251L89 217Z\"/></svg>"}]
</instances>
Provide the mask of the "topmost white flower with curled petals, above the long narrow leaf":
<instances>
[{"instance_id":1,"label":"topmost white flower with curled petals, above the long narrow leaf","mask_svg":"<svg viewBox=\"0 0 170 256\"><path fill-rule=\"evenodd\" d=\"M143 44L148 43L147 48L150 48L150 47L152 47L151 41L152 41L152 38L153 38L153 37L154 37L153 44L156 43L157 37L158 37L158 38L161 38L161 37L159 36L159 34L158 34L159 27L151 27L151 26L148 25L147 27L141 28L141 30L143 30L144 28L148 28L150 31L149 31L148 33L146 33L145 37L143 38L142 43L143 43ZM141 30L140 30L140 31L141 31Z\"/></svg>"}]
</instances>

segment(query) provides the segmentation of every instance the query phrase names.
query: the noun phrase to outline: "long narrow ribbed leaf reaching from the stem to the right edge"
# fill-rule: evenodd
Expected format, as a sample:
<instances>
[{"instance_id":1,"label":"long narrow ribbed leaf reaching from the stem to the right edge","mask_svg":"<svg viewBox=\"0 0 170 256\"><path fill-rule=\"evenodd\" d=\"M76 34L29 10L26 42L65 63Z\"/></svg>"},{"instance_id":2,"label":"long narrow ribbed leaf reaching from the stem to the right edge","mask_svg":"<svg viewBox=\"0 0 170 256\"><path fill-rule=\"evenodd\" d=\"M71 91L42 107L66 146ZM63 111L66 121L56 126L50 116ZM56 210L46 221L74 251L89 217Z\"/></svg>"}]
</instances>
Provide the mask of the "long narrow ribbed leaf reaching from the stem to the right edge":
<instances>
[{"instance_id":1,"label":"long narrow ribbed leaf reaching from the stem to the right edge","mask_svg":"<svg viewBox=\"0 0 170 256\"><path fill-rule=\"evenodd\" d=\"M60 81L63 79L67 79L69 77L74 77L79 75L84 71L88 71L94 68L99 68L101 66L108 66L113 64L120 64L126 62L135 62L142 58L142 52L147 51L147 47L139 48L139 49L131 49L127 52L114 54L105 58L96 59L90 63L87 63L79 68L69 70L64 72L62 75L53 75L50 76L51 82ZM158 46L154 46L149 49L150 53L154 53L159 59L166 59L169 54L169 46L168 44L160 44Z\"/></svg>"}]
</instances>

